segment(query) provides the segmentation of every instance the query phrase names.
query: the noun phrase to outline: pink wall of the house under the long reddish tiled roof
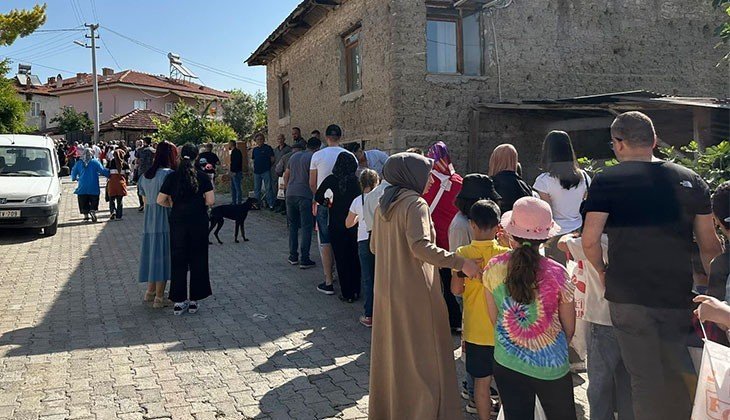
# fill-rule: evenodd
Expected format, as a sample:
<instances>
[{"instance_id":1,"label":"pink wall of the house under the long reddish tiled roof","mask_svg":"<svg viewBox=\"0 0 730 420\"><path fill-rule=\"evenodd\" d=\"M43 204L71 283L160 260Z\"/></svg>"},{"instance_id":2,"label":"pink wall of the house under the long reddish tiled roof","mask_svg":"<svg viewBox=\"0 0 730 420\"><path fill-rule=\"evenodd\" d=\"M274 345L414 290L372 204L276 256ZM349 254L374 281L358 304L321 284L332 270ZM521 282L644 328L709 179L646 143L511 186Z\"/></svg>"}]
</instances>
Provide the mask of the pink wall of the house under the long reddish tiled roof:
<instances>
[{"instance_id":1,"label":"pink wall of the house under the long reddish tiled roof","mask_svg":"<svg viewBox=\"0 0 730 420\"><path fill-rule=\"evenodd\" d=\"M82 92L66 93L60 96L61 106L72 106L78 112L88 112L89 117L94 116L94 94L91 90ZM104 87L99 88L99 102L101 102L100 119L102 122L118 115L124 115L134 110L134 101L147 101L147 109L165 113L165 104L176 104L180 97L174 93L141 91L126 87ZM197 101L192 98L182 98L183 102L190 106L197 106ZM217 106L217 104L216 104Z\"/></svg>"}]
</instances>

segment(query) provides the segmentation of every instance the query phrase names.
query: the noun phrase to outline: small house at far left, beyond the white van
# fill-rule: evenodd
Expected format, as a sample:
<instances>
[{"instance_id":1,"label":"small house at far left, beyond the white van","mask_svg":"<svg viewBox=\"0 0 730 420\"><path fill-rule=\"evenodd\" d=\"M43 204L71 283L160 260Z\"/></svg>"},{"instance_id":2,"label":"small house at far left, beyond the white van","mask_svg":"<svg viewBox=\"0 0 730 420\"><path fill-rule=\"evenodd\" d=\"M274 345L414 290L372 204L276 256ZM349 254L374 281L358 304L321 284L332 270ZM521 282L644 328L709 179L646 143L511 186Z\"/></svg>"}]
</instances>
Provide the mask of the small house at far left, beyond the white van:
<instances>
[{"instance_id":1,"label":"small house at far left, beyond the white van","mask_svg":"<svg viewBox=\"0 0 730 420\"><path fill-rule=\"evenodd\" d=\"M19 64L13 82L18 96L28 103L26 125L38 131L54 127L56 124L51 123L51 120L60 109L60 101L48 86L41 83L37 75L31 73L31 66Z\"/></svg>"}]
</instances>

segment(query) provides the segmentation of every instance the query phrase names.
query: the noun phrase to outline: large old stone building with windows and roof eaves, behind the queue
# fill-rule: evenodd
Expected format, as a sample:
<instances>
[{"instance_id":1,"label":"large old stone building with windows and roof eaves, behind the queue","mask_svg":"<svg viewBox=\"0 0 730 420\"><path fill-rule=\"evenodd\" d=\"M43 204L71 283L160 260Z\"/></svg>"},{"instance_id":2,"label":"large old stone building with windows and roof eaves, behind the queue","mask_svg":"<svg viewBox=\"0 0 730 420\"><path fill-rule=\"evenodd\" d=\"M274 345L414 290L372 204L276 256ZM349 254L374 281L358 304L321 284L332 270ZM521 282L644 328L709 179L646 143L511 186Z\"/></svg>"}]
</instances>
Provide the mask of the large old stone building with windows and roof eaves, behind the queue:
<instances>
[{"instance_id":1,"label":"large old stone building with windows and roof eaves, behind the queue","mask_svg":"<svg viewBox=\"0 0 730 420\"><path fill-rule=\"evenodd\" d=\"M610 95L559 114L526 101L726 97L719 16L709 1L305 0L247 63L267 66L270 139L334 122L366 148L443 140L461 170L485 170L494 146L511 142L532 174L548 128L573 120L566 130L598 141L578 131L605 131L623 109L600 102ZM623 105L679 108L639 102ZM684 104L690 134L697 115L705 128L726 116L706 103Z\"/></svg>"}]
</instances>

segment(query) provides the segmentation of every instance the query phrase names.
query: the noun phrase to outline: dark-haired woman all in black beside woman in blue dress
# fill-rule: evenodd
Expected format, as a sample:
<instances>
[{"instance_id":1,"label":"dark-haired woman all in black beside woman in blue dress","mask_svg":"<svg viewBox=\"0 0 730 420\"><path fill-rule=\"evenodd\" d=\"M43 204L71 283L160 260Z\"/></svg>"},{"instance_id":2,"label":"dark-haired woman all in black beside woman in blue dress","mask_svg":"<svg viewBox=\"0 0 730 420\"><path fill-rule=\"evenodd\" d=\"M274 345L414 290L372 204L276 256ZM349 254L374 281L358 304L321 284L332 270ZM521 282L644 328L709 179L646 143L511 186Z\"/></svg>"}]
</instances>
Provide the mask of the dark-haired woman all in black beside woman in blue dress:
<instances>
[{"instance_id":1,"label":"dark-haired woman all in black beside woman in blue dress","mask_svg":"<svg viewBox=\"0 0 730 420\"><path fill-rule=\"evenodd\" d=\"M210 178L195 169L198 148L186 144L180 163L165 179L157 204L170 211L170 299L174 314L198 311L198 301L212 294L208 272L208 207L215 204ZM188 290L188 273L190 288Z\"/></svg>"}]
</instances>

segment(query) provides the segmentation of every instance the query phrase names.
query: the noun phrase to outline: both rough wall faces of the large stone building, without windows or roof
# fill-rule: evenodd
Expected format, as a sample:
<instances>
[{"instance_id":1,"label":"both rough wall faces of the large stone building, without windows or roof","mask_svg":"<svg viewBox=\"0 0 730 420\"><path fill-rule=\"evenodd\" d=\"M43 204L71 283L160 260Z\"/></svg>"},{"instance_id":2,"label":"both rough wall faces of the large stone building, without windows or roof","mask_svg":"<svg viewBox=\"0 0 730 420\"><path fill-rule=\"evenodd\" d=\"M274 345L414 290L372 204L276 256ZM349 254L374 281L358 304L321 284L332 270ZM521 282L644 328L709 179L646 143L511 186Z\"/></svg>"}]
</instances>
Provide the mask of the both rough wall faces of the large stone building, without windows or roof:
<instances>
[{"instance_id":1,"label":"both rough wall faces of the large stone building, without windows or roof","mask_svg":"<svg viewBox=\"0 0 730 420\"><path fill-rule=\"evenodd\" d=\"M727 69L716 67L722 51L714 48L720 15L708 1L515 1L484 18L488 65L479 77L427 74L426 16L426 0L348 0L333 9L268 66L269 141L279 133L290 138L293 126L306 137L334 122L344 141L388 152L443 140L464 171L475 103L637 89L728 96ZM358 23L363 89L343 95L341 36ZM283 74L291 117L280 119ZM479 168L494 145L509 141L526 175L533 173L548 123L525 114L483 116Z\"/></svg>"}]
</instances>

